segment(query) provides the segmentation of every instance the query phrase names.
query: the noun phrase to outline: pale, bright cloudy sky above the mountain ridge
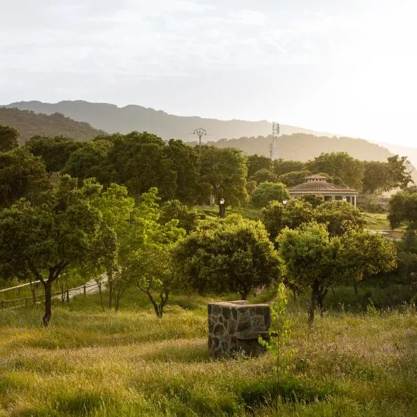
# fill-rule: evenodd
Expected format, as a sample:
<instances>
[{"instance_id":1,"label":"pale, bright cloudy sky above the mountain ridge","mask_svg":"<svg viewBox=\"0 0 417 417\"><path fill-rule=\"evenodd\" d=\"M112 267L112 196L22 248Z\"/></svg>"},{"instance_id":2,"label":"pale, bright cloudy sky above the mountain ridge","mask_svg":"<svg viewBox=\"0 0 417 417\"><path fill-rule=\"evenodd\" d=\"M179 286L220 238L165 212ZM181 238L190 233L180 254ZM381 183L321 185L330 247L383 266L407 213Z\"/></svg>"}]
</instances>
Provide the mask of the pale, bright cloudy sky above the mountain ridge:
<instances>
[{"instance_id":1,"label":"pale, bright cloudy sky above the mountain ridge","mask_svg":"<svg viewBox=\"0 0 417 417\"><path fill-rule=\"evenodd\" d=\"M416 15L416 0L0 0L0 104L138 104L417 147Z\"/></svg>"}]
</instances>

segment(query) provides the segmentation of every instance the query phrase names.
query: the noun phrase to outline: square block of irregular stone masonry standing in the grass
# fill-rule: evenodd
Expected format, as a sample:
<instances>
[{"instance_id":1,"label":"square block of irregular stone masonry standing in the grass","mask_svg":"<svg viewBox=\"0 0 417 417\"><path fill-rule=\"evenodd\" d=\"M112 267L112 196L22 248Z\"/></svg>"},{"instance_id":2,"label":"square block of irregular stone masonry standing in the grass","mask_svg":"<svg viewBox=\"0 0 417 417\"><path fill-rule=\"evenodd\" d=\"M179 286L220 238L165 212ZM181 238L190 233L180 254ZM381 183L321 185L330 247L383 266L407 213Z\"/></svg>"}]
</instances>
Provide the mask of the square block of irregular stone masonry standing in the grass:
<instances>
[{"instance_id":1,"label":"square block of irregular stone masonry standing in the grass","mask_svg":"<svg viewBox=\"0 0 417 417\"><path fill-rule=\"evenodd\" d=\"M208 349L213 356L242 351L256 354L265 350L258 338L270 339L271 316L268 304L247 301L208 304Z\"/></svg>"}]
</instances>

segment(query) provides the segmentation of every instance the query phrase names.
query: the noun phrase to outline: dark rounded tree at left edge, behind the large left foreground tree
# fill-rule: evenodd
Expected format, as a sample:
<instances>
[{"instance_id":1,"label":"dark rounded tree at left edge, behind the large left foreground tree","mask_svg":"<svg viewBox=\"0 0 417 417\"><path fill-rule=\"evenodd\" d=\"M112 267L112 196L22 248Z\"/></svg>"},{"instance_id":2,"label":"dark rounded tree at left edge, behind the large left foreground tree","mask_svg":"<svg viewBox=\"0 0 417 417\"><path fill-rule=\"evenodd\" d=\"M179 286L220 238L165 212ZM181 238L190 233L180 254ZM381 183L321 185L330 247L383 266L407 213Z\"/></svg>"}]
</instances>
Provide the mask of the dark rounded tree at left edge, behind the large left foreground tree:
<instances>
[{"instance_id":1,"label":"dark rounded tree at left edge, behind the large left foreground tree","mask_svg":"<svg viewBox=\"0 0 417 417\"><path fill-rule=\"evenodd\" d=\"M0 207L22 197L38 199L50 187L42 158L21 147L0 152Z\"/></svg>"}]
</instances>

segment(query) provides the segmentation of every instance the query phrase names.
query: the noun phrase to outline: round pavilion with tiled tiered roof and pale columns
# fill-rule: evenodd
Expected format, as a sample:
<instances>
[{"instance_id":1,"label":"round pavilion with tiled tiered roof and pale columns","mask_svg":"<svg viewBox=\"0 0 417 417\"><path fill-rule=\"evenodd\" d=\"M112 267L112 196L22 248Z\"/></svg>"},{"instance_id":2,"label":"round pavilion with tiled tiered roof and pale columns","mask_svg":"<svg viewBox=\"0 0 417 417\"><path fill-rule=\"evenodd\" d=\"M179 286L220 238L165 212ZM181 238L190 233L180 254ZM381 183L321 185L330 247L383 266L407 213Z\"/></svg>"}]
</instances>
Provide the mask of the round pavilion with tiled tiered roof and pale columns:
<instances>
[{"instance_id":1,"label":"round pavilion with tiled tiered roof and pale columns","mask_svg":"<svg viewBox=\"0 0 417 417\"><path fill-rule=\"evenodd\" d=\"M305 183L298 184L288 188L291 198L300 198L302 195L313 194L321 196L325 202L333 200L343 200L356 206L357 190L346 188L342 186L335 186L334 184L328 183L327 178L322 175L311 175L306 177Z\"/></svg>"}]
</instances>

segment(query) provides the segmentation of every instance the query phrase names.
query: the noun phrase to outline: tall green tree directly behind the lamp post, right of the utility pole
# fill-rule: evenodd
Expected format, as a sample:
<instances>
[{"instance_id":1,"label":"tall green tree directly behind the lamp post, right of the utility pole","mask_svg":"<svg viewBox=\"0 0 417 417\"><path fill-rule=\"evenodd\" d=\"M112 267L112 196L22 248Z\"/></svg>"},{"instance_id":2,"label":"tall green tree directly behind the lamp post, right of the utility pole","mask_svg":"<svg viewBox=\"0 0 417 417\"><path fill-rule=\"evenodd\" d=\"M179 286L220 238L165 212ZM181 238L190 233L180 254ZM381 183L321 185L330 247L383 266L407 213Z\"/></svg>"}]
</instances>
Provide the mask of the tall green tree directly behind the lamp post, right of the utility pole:
<instances>
[{"instance_id":1,"label":"tall green tree directly behind the lamp post, right of the utility pole","mask_svg":"<svg viewBox=\"0 0 417 417\"><path fill-rule=\"evenodd\" d=\"M216 202L224 198L231 206L247 202L247 158L242 152L202 146L200 164L203 193L213 195ZM201 198L204 201L206 196L203 194Z\"/></svg>"}]
</instances>

